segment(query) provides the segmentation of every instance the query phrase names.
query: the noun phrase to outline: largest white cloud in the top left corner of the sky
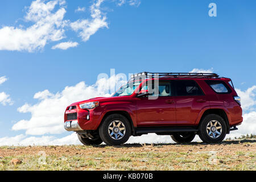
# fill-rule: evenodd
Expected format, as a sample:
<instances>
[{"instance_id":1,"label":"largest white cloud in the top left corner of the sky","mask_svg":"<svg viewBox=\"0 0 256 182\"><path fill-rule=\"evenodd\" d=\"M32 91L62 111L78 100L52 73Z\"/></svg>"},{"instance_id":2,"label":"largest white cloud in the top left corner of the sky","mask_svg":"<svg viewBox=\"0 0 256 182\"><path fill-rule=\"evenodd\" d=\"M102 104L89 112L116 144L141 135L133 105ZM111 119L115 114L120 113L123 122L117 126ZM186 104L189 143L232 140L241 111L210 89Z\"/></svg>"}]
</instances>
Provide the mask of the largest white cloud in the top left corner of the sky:
<instances>
[{"instance_id":1,"label":"largest white cloud in the top left corner of the sky","mask_svg":"<svg viewBox=\"0 0 256 182\"><path fill-rule=\"evenodd\" d=\"M42 49L48 42L63 39L64 27L67 24L67 21L63 20L66 13L64 2L33 1L24 19L34 24L27 28L8 26L1 28L0 50L33 52ZM54 11L56 5L59 5L59 9Z\"/></svg>"}]
</instances>

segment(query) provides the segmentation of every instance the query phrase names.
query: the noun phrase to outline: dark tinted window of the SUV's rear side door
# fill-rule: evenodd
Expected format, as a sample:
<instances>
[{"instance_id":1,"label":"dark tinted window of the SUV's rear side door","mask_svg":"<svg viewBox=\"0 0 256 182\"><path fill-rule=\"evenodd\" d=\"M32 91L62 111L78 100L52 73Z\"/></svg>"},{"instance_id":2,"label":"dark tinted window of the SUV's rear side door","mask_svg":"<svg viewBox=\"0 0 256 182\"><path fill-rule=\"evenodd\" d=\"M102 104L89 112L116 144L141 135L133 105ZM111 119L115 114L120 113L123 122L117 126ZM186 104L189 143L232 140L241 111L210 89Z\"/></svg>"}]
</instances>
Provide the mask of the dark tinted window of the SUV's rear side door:
<instances>
[{"instance_id":1,"label":"dark tinted window of the SUV's rear side door","mask_svg":"<svg viewBox=\"0 0 256 182\"><path fill-rule=\"evenodd\" d=\"M177 96L201 96L203 92L195 81L176 81Z\"/></svg>"}]
</instances>

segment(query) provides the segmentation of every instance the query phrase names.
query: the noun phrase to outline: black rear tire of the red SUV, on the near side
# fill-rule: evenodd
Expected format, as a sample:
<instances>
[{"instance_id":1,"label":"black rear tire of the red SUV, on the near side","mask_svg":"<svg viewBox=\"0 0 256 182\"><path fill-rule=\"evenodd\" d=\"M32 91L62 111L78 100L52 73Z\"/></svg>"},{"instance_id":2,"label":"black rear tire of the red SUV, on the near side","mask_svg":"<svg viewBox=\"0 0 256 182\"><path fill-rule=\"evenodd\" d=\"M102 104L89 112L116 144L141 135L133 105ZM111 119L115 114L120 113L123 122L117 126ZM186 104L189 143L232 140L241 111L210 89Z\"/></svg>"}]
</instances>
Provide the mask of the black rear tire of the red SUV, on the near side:
<instances>
[{"instance_id":1,"label":"black rear tire of the red SUV, on the near side","mask_svg":"<svg viewBox=\"0 0 256 182\"><path fill-rule=\"evenodd\" d=\"M213 126L210 126L210 125L212 125L212 124L210 124L211 121L214 124L217 121L215 130L217 130L218 133L220 133L220 134L214 133L214 136L213 136L212 129L209 129L209 128L213 127ZM221 126L221 129L218 129L220 126ZM227 131L226 122L220 115L217 115L217 114L208 114L207 116L204 117L203 121L201 121L201 123L199 125L199 137L205 143L220 143L220 142L222 142L222 140L226 136L226 131ZM210 134L212 136L209 135L210 132L212 132Z\"/></svg>"}]
</instances>

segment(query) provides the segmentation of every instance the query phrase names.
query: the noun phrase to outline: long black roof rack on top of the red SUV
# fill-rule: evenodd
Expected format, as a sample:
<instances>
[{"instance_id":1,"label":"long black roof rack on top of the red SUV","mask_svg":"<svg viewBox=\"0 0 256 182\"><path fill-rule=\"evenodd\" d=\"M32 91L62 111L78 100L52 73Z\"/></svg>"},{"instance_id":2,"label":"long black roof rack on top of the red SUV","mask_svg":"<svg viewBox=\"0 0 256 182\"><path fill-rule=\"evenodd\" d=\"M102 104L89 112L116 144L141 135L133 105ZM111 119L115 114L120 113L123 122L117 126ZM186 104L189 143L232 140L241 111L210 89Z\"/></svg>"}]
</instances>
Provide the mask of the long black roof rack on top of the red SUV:
<instances>
[{"instance_id":1,"label":"long black roof rack on top of the red SUV","mask_svg":"<svg viewBox=\"0 0 256 182\"><path fill-rule=\"evenodd\" d=\"M142 72L131 75L131 80L135 78L146 79L146 78L218 78L216 73L151 73Z\"/></svg>"}]
</instances>

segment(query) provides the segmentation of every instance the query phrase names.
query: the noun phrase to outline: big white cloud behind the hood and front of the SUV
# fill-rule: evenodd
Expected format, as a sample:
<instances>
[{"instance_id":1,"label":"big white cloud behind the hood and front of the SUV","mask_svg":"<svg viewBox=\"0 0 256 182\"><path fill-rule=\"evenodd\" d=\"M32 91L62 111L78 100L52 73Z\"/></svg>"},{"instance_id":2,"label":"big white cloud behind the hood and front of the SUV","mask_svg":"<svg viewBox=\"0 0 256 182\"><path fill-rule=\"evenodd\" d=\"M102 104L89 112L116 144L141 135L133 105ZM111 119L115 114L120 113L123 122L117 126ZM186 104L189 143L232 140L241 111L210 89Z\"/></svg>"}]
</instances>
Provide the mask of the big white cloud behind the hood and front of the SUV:
<instances>
[{"instance_id":1,"label":"big white cloud behind the hood and front of the SUV","mask_svg":"<svg viewBox=\"0 0 256 182\"><path fill-rule=\"evenodd\" d=\"M80 82L75 86L67 86L56 94L48 90L38 92L34 98L39 102L35 105L24 104L18 108L20 113L31 113L29 120L20 120L14 124L13 130L26 130L29 135L60 134L63 133L63 115L66 107L73 102L93 97L109 97L109 88L119 77L101 78L93 85ZM123 82L124 84L125 82Z\"/></svg>"}]
</instances>

